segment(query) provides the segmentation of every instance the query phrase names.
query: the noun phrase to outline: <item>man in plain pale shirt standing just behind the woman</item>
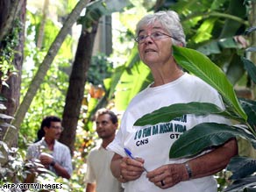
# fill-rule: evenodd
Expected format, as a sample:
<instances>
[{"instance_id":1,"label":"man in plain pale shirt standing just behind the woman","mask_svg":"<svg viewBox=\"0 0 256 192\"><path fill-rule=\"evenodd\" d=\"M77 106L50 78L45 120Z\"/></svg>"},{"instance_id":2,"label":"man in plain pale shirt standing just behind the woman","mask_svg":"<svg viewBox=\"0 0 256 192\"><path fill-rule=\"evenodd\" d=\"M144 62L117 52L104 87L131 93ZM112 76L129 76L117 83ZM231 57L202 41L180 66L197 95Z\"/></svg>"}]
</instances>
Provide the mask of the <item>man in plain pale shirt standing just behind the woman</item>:
<instances>
[{"instance_id":1,"label":"man in plain pale shirt standing just behind the woman","mask_svg":"<svg viewBox=\"0 0 256 192\"><path fill-rule=\"evenodd\" d=\"M122 192L121 183L111 174L110 161L114 153L106 146L115 138L118 126L117 116L111 110L96 112L96 132L103 140L100 147L89 153L87 159L86 192Z\"/></svg>"}]
</instances>

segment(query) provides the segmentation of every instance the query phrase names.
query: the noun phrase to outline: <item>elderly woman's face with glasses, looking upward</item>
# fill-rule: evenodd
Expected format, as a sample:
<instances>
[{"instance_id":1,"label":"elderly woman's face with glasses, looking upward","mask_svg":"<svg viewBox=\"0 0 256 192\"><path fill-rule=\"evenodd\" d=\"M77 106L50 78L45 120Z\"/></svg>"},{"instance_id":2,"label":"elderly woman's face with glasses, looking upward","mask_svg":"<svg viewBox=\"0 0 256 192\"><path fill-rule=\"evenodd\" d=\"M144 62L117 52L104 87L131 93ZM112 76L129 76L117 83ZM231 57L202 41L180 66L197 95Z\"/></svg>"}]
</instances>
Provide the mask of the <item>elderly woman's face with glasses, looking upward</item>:
<instances>
[{"instance_id":1,"label":"elderly woman's face with glasses, looking upward","mask_svg":"<svg viewBox=\"0 0 256 192\"><path fill-rule=\"evenodd\" d=\"M152 37L152 34L157 34L156 37L160 38L154 38L155 35ZM142 26L139 30L139 36L141 35L145 38L143 42L138 43L139 56L147 66L166 63L172 58L172 39L160 23Z\"/></svg>"}]
</instances>

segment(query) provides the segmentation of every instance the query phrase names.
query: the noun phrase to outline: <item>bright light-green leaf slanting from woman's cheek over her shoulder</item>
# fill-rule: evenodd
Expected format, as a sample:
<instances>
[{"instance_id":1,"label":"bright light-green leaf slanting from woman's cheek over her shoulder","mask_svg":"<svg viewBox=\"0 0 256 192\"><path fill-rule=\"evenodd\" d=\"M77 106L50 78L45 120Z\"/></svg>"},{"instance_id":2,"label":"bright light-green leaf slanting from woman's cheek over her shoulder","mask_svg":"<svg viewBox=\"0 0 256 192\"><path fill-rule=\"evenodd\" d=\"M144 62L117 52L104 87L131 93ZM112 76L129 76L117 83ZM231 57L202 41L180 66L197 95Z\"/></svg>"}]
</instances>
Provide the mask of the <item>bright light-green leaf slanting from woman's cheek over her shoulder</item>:
<instances>
[{"instance_id":1,"label":"bright light-green leaf slanting from woman's cheek over her shoulder","mask_svg":"<svg viewBox=\"0 0 256 192\"><path fill-rule=\"evenodd\" d=\"M174 59L182 68L185 68L217 89L224 97L224 101L234 109L234 112L245 120L247 119L245 111L238 103L238 98L235 95L231 82L228 81L224 72L217 65L203 53L199 53L196 50L180 46L173 46L173 50Z\"/></svg>"}]
</instances>

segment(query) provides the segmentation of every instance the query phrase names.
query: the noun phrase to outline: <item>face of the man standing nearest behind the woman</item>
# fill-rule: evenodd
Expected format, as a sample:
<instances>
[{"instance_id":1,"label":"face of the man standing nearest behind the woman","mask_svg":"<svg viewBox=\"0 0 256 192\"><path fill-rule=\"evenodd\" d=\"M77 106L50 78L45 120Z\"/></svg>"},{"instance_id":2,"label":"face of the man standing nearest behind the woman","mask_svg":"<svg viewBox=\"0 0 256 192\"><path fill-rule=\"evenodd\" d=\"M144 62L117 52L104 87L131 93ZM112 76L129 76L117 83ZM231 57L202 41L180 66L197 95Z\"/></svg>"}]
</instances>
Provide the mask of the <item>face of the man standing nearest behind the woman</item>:
<instances>
[{"instance_id":1,"label":"face of the man standing nearest behind the woman","mask_svg":"<svg viewBox=\"0 0 256 192\"><path fill-rule=\"evenodd\" d=\"M117 124L113 124L109 114L103 114L96 118L96 132L101 139L110 139L115 136Z\"/></svg>"}]
</instances>

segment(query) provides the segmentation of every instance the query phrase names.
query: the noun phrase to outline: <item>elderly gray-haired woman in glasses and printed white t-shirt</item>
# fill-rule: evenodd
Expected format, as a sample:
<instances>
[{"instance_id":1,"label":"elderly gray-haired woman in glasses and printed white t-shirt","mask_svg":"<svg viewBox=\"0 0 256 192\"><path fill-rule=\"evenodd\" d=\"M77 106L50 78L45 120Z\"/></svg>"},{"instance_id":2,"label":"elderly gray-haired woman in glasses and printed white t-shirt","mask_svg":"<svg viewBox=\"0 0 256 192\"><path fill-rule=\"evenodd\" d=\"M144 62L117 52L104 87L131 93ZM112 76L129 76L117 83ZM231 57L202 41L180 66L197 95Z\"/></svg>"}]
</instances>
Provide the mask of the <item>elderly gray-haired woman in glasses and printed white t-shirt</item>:
<instances>
[{"instance_id":1,"label":"elderly gray-haired woman in glasses and printed white t-shirt","mask_svg":"<svg viewBox=\"0 0 256 192\"><path fill-rule=\"evenodd\" d=\"M238 153L236 139L190 159L169 159L179 136L203 122L229 124L217 115L184 115L170 122L133 126L140 117L174 103L214 103L224 108L217 90L182 71L172 55L172 45L185 46L180 19L174 11L159 11L137 25L139 56L151 69L154 82L132 99L117 137L108 149L115 152L112 174L124 182L125 192L216 192L212 174L222 170ZM133 158L126 156L128 149Z\"/></svg>"}]
</instances>

